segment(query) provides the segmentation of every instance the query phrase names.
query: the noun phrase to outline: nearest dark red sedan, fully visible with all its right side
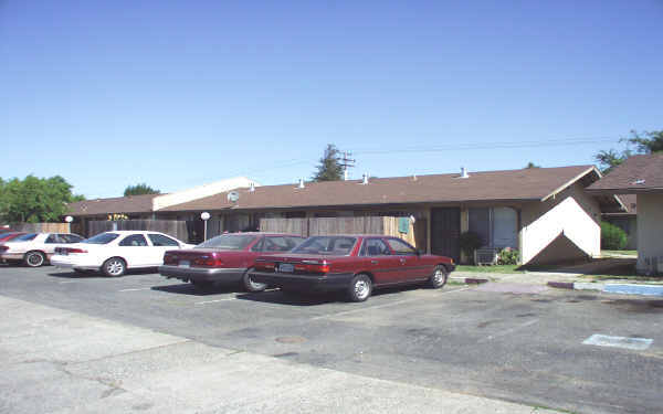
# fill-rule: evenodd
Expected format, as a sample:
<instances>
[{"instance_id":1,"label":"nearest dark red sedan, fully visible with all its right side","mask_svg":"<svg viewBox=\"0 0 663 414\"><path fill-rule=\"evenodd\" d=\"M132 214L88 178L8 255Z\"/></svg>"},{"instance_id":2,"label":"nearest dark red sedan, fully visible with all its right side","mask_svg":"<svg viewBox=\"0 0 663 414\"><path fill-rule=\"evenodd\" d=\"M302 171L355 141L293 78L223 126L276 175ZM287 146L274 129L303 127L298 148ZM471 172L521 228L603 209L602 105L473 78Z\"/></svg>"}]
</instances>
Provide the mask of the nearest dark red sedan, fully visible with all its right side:
<instances>
[{"instance_id":1,"label":"nearest dark red sedan, fully visible with all its right side","mask_svg":"<svg viewBox=\"0 0 663 414\"><path fill-rule=\"evenodd\" d=\"M421 254L398 237L313 236L288 254L257 258L251 279L286 293L346 290L350 300L364 301L385 286L428 282L442 287L454 268L453 259Z\"/></svg>"}]
</instances>

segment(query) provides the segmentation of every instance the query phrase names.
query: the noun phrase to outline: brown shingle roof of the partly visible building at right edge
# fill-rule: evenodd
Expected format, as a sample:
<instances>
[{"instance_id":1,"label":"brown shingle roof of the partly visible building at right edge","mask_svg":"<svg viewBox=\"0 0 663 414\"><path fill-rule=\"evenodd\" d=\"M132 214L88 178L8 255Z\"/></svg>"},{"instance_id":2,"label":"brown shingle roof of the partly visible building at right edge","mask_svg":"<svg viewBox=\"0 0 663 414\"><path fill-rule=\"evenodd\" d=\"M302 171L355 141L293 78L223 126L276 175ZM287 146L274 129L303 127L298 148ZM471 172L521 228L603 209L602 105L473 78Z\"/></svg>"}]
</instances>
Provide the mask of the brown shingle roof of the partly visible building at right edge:
<instances>
[{"instance_id":1,"label":"brown shingle roof of the partly visible building at right edge","mask_svg":"<svg viewBox=\"0 0 663 414\"><path fill-rule=\"evenodd\" d=\"M629 157L588 188L594 193L663 192L663 153Z\"/></svg>"}]
</instances>

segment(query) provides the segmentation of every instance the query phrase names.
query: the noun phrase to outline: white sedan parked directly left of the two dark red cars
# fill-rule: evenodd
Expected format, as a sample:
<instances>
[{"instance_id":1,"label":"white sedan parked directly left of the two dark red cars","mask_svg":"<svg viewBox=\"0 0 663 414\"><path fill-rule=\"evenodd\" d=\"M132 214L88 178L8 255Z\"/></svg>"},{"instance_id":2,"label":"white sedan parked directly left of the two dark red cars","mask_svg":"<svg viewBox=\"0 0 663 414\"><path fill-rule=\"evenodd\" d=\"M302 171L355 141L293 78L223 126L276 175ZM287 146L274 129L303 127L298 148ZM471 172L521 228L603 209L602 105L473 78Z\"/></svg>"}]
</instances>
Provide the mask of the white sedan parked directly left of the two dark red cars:
<instances>
[{"instance_id":1,"label":"white sedan parked directly left of the two dark red cars","mask_svg":"<svg viewBox=\"0 0 663 414\"><path fill-rule=\"evenodd\" d=\"M122 276L129 268L162 265L164 253L167 251L191 247L192 244L164 233L114 231L56 248L51 264L81 273L102 270L106 276Z\"/></svg>"}]
</instances>

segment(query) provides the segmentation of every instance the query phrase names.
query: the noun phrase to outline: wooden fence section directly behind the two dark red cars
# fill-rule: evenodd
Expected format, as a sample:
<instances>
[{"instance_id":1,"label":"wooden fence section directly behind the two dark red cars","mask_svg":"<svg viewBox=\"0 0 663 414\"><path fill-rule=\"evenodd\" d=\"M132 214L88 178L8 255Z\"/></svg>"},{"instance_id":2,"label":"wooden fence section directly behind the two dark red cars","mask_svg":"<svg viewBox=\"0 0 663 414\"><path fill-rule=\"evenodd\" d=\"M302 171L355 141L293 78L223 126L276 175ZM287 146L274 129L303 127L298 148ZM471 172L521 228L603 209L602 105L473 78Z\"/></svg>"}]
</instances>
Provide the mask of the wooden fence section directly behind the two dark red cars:
<instances>
[{"instance_id":1,"label":"wooden fence section directly behind the two dark red cars","mask_svg":"<svg viewBox=\"0 0 663 414\"><path fill-rule=\"evenodd\" d=\"M328 234L383 234L404 240L417 248L427 250L427 221L409 220L407 233L399 231L399 220L392 216L261 219L260 231L290 233L304 237Z\"/></svg>"}]
</instances>

